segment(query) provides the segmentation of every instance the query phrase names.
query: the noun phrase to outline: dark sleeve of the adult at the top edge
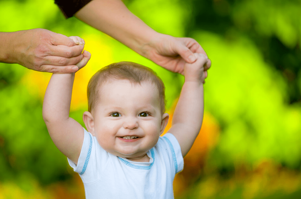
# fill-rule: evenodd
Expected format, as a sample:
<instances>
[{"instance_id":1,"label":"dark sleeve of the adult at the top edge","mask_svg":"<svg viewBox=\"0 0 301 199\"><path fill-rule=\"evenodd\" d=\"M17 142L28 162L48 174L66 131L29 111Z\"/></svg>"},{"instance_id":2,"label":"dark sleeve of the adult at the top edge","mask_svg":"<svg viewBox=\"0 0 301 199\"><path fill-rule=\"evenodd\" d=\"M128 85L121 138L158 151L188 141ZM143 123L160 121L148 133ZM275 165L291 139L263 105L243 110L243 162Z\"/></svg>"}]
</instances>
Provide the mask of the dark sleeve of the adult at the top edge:
<instances>
[{"instance_id":1,"label":"dark sleeve of the adult at the top edge","mask_svg":"<svg viewBox=\"0 0 301 199\"><path fill-rule=\"evenodd\" d=\"M90 1L92 0L55 0L54 3L59 6L65 17L69 18Z\"/></svg>"}]
</instances>

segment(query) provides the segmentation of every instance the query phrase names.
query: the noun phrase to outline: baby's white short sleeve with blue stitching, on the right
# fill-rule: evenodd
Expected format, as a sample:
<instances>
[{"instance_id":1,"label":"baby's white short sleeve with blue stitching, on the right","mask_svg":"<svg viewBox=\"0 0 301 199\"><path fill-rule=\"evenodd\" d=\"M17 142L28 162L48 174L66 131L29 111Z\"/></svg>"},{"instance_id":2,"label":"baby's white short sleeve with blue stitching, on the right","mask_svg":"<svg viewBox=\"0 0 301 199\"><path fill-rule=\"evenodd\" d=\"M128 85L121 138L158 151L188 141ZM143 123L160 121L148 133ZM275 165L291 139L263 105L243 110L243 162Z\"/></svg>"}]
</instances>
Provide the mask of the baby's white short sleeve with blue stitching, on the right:
<instances>
[{"instance_id":1,"label":"baby's white short sleeve with blue stitching, on the right","mask_svg":"<svg viewBox=\"0 0 301 199\"><path fill-rule=\"evenodd\" d=\"M175 166L175 173L179 173L184 168L184 160L181 152L181 147L178 140L171 133L166 133L163 136L171 149L172 159Z\"/></svg>"}]
</instances>

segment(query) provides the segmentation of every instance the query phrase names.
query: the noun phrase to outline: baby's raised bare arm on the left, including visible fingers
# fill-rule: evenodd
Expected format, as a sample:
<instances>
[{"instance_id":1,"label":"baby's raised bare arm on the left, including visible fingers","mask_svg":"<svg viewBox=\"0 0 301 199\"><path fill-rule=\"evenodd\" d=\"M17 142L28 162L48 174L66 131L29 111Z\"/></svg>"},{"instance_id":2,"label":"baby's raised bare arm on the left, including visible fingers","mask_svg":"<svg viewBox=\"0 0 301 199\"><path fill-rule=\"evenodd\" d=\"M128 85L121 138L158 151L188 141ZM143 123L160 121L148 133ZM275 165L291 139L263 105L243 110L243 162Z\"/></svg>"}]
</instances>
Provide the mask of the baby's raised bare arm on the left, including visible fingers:
<instances>
[{"instance_id":1,"label":"baby's raised bare arm on the left, including visible fingers","mask_svg":"<svg viewBox=\"0 0 301 199\"><path fill-rule=\"evenodd\" d=\"M82 40L79 37L70 38L75 43ZM84 58L77 64L79 68L85 66L91 57L87 51L83 51L83 55ZM44 96L43 119L56 147L77 164L84 140L84 129L69 117L74 76L75 73L52 74Z\"/></svg>"}]
</instances>

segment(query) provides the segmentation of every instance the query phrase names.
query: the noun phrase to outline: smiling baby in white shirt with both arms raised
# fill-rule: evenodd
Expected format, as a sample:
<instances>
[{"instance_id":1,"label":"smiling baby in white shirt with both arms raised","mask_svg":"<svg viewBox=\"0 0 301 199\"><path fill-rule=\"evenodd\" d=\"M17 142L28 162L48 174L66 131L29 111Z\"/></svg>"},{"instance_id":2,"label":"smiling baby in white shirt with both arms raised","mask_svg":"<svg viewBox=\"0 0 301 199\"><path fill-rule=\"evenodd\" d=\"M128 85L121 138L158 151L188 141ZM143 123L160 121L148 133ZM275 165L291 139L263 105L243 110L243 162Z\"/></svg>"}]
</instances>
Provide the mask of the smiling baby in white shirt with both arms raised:
<instances>
[{"instance_id":1,"label":"smiling baby in white shirt with both arms raised","mask_svg":"<svg viewBox=\"0 0 301 199\"><path fill-rule=\"evenodd\" d=\"M84 44L78 37L71 37ZM85 65L90 54L83 52ZM195 54L186 63L185 82L169 131L164 85L149 68L132 62L101 68L88 84L86 129L69 117L74 73L53 74L43 102L43 118L56 147L85 186L88 199L174 198L173 179L198 135L204 112L204 66Z\"/></svg>"}]
</instances>

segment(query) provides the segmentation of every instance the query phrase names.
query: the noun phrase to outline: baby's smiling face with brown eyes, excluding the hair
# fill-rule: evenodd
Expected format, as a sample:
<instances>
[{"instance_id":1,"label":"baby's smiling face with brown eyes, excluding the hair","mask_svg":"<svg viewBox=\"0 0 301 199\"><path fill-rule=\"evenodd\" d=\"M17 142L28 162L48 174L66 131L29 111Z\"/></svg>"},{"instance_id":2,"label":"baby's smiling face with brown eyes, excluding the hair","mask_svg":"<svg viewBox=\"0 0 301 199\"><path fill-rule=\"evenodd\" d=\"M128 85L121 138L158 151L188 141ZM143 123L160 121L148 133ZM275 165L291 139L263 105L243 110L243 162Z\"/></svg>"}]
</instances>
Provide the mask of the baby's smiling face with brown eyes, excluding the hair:
<instances>
[{"instance_id":1,"label":"baby's smiling face with brown eyes, excluding the hair","mask_svg":"<svg viewBox=\"0 0 301 199\"><path fill-rule=\"evenodd\" d=\"M139 158L155 146L165 128L168 114L161 114L158 88L148 82L132 84L111 80L99 88L95 106L94 132L107 152Z\"/></svg>"}]
</instances>

